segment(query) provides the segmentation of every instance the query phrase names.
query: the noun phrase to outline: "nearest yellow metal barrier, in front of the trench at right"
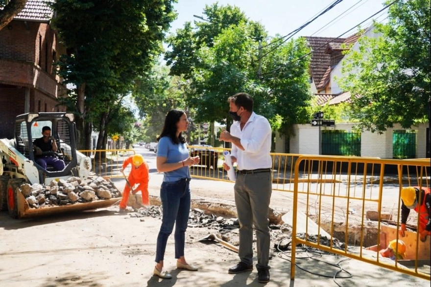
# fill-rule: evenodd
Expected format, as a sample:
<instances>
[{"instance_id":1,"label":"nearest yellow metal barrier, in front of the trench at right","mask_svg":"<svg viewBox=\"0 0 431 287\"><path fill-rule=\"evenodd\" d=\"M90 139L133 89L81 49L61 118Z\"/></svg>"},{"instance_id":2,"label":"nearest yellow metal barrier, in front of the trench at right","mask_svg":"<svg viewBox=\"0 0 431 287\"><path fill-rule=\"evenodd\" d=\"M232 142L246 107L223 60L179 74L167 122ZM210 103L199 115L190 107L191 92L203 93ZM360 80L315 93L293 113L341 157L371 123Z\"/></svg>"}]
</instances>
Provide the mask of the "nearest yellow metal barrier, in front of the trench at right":
<instances>
[{"instance_id":1,"label":"nearest yellow metal barrier, in front of the trench at right","mask_svg":"<svg viewBox=\"0 0 431 287\"><path fill-rule=\"evenodd\" d=\"M317 172L312 173L314 165L317 165L315 166ZM347 168L345 174L340 173L341 166ZM424 269L419 268L421 262L430 260L430 236L422 242L416 232L407 232L404 238L399 235L400 191L407 186L429 188L430 166L429 159L298 157L294 166L293 182L291 280L295 277L298 244L430 280L430 274L422 272ZM398 179L395 181L388 181L385 178L385 169L390 167L398 170ZM307 175L311 173L314 178ZM327 178L332 182L322 181ZM301 181L304 179L306 181ZM342 184L338 184L338 180ZM302 190L300 186L303 186ZM332 208L325 209L325 206ZM302 217L300 210L305 210ZM371 212L377 215L375 221L370 219ZM307 219L300 223L299 220L303 217L311 217L313 221ZM407 223L419 225L418 216L414 211L410 212ZM299 228L305 228L305 232L299 234ZM325 230L330 236L329 246L321 243L323 237L321 234ZM397 258L392 261L383 258L379 253L392 239L406 241L404 260ZM338 244L338 240L342 244ZM356 247L348 249L348 245Z\"/></svg>"}]
</instances>

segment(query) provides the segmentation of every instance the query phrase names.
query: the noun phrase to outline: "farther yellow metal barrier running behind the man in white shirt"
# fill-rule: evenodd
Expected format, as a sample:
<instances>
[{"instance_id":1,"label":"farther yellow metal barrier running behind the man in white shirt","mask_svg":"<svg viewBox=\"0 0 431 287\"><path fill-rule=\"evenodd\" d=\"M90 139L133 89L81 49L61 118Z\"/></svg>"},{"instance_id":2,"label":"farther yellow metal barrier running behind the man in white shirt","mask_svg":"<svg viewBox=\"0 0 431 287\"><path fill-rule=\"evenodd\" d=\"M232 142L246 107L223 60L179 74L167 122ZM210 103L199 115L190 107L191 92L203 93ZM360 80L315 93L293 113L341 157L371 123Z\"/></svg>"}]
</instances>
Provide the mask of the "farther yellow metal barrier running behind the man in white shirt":
<instances>
[{"instance_id":1,"label":"farther yellow metal barrier running behind the man in white shirt","mask_svg":"<svg viewBox=\"0 0 431 287\"><path fill-rule=\"evenodd\" d=\"M204 178L218 181L229 181L227 172L223 170L223 151L230 151L230 148L218 147L202 147L202 146L189 146L191 156L200 155L201 163L193 166L191 169L192 177ZM293 192L294 185L294 167L298 158L302 155L286 154L286 153L271 153L272 157L272 189L274 191L290 191ZM360 158L364 159L364 158ZM332 161L317 161L313 160L302 164L298 171L298 187L296 189L299 193L304 194L319 194L323 196L339 196L346 197L343 192L343 187L347 182L363 183L373 186L367 190L365 200L377 201L379 198L378 184L380 180L380 169L375 167L373 162L375 158L370 158L365 162L365 165L352 165L349 168L349 175L347 172L347 164L344 162L337 163L334 166ZM213 163L216 163L215 167ZM211 164L211 165L210 165ZM234 166L236 167L236 166ZM343 167L343 168L341 168ZM368 173L366 177L362 174ZM396 168L395 168L396 170ZM391 178L383 178L384 181L391 180ZM365 181L365 182L364 182ZM316 185L309 185L309 183L316 183ZM317 185L320 183L321 185ZM356 185L350 190L349 198L361 199L363 197L362 190L358 189Z\"/></svg>"}]
</instances>

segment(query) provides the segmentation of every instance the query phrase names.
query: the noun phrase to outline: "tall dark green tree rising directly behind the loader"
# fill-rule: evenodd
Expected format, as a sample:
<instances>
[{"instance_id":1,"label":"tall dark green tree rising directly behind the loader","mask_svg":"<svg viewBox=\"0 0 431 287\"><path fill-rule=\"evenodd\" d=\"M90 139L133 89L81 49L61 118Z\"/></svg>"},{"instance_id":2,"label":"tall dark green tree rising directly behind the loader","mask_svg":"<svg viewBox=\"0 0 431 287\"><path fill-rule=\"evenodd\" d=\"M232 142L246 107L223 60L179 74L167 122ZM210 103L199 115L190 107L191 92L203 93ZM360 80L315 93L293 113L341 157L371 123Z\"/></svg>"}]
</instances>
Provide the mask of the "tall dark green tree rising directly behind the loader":
<instances>
[{"instance_id":1,"label":"tall dark green tree rising directly behind the loader","mask_svg":"<svg viewBox=\"0 0 431 287\"><path fill-rule=\"evenodd\" d=\"M79 137L89 144L89 120L104 127L108 114L127 95L134 80L162 51L161 41L174 19L175 0L57 0L53 23L67 47L59 61L59 74L71 91Z\"/></svg>"}]
</instances>

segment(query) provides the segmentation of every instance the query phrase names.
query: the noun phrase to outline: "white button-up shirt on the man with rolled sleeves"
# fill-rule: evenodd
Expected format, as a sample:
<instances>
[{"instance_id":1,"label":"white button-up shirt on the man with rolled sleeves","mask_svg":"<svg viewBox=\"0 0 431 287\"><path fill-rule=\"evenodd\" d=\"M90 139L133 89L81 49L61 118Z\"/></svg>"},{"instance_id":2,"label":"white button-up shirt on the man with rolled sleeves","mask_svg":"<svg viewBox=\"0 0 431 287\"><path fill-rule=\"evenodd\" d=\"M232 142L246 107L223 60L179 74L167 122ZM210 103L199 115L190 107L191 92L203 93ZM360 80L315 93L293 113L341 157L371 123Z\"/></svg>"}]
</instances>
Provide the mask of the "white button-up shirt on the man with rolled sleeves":
<instances>
[{"instance_id":1,"label":"white button-up shirt on the man with rolled sleeves","mask_svg":"<svg viewBox=\"0 0 431 287\"><path fill-rule=\"evenodd\" d=\"M263 116L253 112L241 130L240 121L231 126L230 134L240 139L244 150L232 144L231 156L237 158L239 170L271 168L271 125Z\"/></svg>"}]
</instances>

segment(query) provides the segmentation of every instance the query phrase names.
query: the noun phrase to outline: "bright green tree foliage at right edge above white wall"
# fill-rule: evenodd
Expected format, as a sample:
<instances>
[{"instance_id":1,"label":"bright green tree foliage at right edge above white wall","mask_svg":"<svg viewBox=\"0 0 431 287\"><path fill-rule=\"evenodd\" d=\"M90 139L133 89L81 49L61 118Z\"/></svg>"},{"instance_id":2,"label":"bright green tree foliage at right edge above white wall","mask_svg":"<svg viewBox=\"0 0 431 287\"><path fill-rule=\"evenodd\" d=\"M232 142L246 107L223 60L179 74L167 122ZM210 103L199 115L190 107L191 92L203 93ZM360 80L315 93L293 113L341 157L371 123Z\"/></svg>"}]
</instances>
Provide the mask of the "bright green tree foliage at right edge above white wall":
<instances>
[{"instance_id":1,"label":"bright green tree foliage at right edge above white wall","mask_svg":"<svg viewBox=\"0 0 431 287\"><path fill-rule=\"evenodd\" d=\"M430 0L400 0L390 6L380 38L360 39L342 69L341 87L352 93L351 117L359 128L383 132L399 122L410 128L431 122Z\"/></svg>"}]
</instances>

